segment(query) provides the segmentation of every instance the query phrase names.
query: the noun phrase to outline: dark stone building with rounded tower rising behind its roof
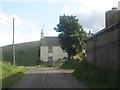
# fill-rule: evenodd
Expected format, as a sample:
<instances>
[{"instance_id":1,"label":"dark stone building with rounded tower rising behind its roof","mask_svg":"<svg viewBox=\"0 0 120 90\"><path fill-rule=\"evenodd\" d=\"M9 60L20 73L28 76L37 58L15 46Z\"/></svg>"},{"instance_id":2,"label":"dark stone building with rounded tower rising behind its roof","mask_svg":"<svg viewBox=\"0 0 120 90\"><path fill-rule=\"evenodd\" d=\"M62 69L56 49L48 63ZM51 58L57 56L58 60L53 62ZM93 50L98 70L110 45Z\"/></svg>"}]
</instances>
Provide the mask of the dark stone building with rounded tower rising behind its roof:
<instances>
[{"instance_id":1,"label":"dark stone building with rounded tower rising behind its roof","mask_svg":"<svg viewBox=\"0 0 120 90\"><path fill-rule=\"evenodd\" d=\"M105 13L106 27L86 40L86 60L97 67L120 70L120 10Z\"/></svg>"}]
</instances>

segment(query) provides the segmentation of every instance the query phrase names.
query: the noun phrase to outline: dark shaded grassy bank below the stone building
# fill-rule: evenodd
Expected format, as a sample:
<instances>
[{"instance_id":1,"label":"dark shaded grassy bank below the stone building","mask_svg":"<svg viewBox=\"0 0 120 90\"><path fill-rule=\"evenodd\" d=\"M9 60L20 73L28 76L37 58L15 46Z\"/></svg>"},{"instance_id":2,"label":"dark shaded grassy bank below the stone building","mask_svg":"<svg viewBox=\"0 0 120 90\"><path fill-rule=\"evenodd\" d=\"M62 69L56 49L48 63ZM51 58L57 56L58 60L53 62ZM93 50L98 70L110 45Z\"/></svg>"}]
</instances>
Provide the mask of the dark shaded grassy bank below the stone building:
<instances>
[{"instance_id":1,"label":"dark shaded grassy bank below the stone building","mask_svg":"<svg viewBox=\"0 0 120 90\"><path fill-rule=\"evenodd\" d=\"M86 61L70 60L65 62L61 68L74 69L72 75L88 88L120 88L116 72L101 68L94 69L93 65Z\"/></svg>"}]
</instances>

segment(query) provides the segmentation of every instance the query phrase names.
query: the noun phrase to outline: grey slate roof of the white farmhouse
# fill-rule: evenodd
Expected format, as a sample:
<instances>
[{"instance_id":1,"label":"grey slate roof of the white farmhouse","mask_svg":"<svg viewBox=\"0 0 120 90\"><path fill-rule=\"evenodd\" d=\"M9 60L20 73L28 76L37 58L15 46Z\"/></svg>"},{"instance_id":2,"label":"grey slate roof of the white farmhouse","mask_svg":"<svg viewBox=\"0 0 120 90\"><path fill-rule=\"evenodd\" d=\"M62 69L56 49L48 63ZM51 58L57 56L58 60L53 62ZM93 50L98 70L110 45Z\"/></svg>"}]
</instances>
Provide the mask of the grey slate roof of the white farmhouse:
<instances>
[{"instance_id":1,"label":"grey slate roof of the white farmhouse","mask_svg":"<svg viewBox=\"0 0 120 90\"><path fill-rule=\"evenodd\" d=\"M44 37L41 40L41 46L60 46L58 37Z\"/></svg>"}]
</instances>

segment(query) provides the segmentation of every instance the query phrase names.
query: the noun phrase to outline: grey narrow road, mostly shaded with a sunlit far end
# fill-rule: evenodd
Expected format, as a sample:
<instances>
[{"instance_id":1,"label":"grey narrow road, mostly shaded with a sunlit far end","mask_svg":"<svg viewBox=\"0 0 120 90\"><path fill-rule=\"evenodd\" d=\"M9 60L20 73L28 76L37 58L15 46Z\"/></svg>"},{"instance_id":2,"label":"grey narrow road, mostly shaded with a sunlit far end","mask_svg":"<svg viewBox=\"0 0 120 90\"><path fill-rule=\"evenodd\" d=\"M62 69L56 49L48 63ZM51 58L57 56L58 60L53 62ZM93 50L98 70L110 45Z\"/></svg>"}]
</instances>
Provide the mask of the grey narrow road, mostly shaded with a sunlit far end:
<instances>
[{"instance_id":1,"label":"grey narrow road, mostly shaded with a sunlit far end","mask_svg":"<svg viewBox=\"0 0 120 90\"><path fill-rule=\"evenodd\" d=\"M12 88L85 88L70 73L73 70L27 67L23 78Z\"/></svg>"}]
</instances>

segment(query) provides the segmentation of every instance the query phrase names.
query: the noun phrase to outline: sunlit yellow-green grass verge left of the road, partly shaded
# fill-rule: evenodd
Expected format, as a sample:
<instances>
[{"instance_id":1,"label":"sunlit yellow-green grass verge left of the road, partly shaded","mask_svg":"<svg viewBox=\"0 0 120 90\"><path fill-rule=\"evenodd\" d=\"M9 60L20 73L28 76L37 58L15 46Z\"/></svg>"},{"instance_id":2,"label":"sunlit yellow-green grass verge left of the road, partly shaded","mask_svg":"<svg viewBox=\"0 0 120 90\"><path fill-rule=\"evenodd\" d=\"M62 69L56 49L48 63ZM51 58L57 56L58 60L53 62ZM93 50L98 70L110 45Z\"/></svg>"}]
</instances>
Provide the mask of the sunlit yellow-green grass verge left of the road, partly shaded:
<instances>
[{"instance_id":1,"label":"sunlit yellow-green grass verge left of the road, partly shaded","mask_svg":"<svg viewBox=\"0 0 120 90\"><path fill-rule=\"evenodd\" d=\"M2 63L2 88L10 88L24 75L25 71L25 67Z\"/></svg>"}]
</instances>

